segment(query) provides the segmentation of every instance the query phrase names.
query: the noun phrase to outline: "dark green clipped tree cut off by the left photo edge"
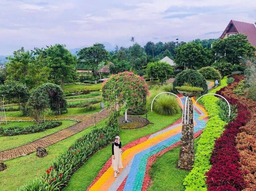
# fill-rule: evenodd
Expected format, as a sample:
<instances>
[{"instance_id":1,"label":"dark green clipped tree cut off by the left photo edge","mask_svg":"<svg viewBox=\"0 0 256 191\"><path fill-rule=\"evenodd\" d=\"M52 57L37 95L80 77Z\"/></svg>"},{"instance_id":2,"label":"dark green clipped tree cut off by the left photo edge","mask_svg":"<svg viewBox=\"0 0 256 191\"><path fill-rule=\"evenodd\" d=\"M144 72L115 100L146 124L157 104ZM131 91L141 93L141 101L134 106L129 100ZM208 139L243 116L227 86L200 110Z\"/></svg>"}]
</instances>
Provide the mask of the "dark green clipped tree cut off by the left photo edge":
<instances>
[{"instance_id":1,"label":"dark green clipped tree cut off by the left photo edge","mask_svg":"<svg viewBox=\"0 0 256 191\"><path fill-rule=\"evenodd\" d=\"M0 95L5 96L5 100L17 102L23 115L27 115L26 102L29 98L27 86L21 82L7 81L0 86Z\"/></svg>"}]
</instances>

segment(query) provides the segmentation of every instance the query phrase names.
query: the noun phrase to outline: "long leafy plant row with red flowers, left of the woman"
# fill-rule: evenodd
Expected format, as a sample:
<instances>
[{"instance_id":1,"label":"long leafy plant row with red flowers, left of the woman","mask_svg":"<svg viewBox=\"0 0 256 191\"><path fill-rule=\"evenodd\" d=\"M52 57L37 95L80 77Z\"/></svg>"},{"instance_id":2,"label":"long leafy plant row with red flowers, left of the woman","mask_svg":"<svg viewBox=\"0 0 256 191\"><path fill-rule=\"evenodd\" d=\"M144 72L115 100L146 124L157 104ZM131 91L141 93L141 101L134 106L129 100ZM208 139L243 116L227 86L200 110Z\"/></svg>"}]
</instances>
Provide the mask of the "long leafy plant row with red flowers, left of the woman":
<instances>
[{"instance_id":1,"label":"long leafy plant row with red flowers, left of the woman","mask_svg":"<svg viewBox=\"0 0 256 191\"><path fill-rule=\"evenodd\" d=\"M117 135L117 128L95 128L78 139L68 151L61 154L40 178L34 179L19 190L61 190L70 176L98 149L107 145Z\"/></svg>"}]
</instances>

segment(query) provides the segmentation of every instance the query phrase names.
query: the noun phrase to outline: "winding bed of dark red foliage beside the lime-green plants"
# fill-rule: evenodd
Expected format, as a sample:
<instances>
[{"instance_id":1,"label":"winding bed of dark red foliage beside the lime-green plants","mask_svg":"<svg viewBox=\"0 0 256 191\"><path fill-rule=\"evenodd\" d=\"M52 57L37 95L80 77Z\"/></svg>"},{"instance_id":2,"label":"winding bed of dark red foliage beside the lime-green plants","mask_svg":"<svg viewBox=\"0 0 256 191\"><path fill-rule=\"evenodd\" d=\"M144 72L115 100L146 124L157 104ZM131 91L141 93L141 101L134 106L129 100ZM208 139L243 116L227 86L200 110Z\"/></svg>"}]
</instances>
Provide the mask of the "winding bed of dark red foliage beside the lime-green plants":
<instances>
[{"instance_id":1,"label":"winding bed of dark red foliage beside the lime-green plants","mask_svg":"<svg viewBox=\"0 0 256 191\"><path fill-rule=\"evenodd\" d=\"M240 78L235 77L235 81ZM246 105L243 105L232 95L230 90L237 86L229 85L222 88L217 94L225 96L232 105L237 105L238 117L232 123L225 126L225 130L220 138L216 140L214 151L212 152L210 171L206 173L208 190L242 190L246 187L246 181L243 178L241 164L239 163L239 154L235 147L235 137L239 133L239 127L245 125L250 119L250 112ZM229 91L226 91L229 90ZM227 94L225 93L227 92Z\"/></svg>"}]
</instances>

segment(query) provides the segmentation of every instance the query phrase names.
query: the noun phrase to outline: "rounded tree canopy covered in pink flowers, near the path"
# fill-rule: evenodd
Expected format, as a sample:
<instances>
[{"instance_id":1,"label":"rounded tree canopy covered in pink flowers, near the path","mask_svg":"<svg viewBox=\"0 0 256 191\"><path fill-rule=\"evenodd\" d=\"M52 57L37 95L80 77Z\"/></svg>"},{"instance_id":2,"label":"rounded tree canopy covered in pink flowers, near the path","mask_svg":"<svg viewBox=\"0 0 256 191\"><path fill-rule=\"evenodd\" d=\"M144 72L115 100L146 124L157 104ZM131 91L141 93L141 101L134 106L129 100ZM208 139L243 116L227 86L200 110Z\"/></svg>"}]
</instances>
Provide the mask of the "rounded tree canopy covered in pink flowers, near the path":
<instances>
[{"instance_id":1,"label":"rounded tree canopy covered in pink flowers, near the path","mask_svg":"<svg viewBox=\"0 0 256 191\"><path fill-rule=\"evenodd\" d=\"M103 101L111 110L126 103L125 108L134 115L147 113L147 92L143 77L127 71L112 75L102 87Z\"/></svg>"}]
</instances>

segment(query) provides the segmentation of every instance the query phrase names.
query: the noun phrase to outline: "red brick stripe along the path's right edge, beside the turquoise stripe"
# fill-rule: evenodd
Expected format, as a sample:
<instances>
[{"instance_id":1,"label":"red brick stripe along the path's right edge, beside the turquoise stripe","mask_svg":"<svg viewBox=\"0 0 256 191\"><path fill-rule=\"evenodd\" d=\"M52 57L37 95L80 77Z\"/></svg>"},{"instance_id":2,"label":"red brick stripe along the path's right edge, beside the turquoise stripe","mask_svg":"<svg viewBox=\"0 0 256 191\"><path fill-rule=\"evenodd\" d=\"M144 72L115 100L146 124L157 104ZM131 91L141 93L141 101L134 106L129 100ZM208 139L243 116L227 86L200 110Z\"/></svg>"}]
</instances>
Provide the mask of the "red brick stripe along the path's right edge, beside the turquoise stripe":
<instances>
[{"instance_id":1,"label":"red brick stripe along the path's right edge, beside the turquoise stripe","mask_svg":"<svg viewBox=\"0 0 256 191\"><path fill-rule=\"evenodd\" d=\"M199 135L203 132L203 129L199 130L194 134L194 138L199 137ZM167 151L170 151L172 148L177 147L181 141L178 141L177 143L171 145L170 147L167 147L166 149L163 149L161 152L158 152L154 154L153 156L148 158L147 166L146 166L146 171L144 175L144 180L143 180L143 185L142 185L142 191L147 191L149 182L150 182L150 176L149 176L149 170L151 169L151 166L154 162L156 162L157 157L162 156L164 153Z\"/></svg>"}]
</instances>

